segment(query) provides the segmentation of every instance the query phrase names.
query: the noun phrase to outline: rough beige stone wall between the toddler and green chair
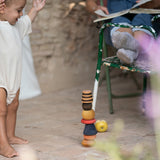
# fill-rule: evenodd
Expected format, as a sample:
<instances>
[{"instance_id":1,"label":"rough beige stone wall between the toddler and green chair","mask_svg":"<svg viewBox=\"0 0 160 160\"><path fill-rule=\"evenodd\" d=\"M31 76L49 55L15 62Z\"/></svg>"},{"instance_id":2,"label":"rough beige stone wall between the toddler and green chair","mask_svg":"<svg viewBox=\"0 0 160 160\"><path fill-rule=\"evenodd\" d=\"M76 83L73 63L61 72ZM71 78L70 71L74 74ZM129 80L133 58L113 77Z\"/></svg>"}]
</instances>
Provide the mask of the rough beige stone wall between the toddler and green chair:
<instances>
[{"instance_id":1,"label":"rough beige stone wall between the toddler and green chair","mask_svg":"<svg viewBox=\"0 0 160 160\"><path fill-rule=\"evenodd\" d=\"M83 5L80 0L47 0L33 23L30 39L43 92L94 79L98 30ZM30 7L28 0L26 11Z\"/></svg>"}]
</instances>

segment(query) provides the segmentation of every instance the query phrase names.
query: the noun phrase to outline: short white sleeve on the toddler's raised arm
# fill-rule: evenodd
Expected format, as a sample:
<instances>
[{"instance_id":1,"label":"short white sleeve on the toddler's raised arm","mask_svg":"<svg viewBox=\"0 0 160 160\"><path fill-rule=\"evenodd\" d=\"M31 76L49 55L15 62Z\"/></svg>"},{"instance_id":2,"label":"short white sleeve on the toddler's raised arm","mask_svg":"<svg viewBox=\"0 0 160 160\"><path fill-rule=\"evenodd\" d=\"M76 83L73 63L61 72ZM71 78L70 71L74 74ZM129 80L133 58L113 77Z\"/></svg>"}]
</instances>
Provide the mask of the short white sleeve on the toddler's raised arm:
<instances>
[{"instance_id":1,"label":"short white sleeve on the toddler's raised arm","mask_svg":"<svg viewBox=\"0 0 160 160\"><path fill-rule=\"evenodd\" d=\"M16 23L21 38L23 39L26 35L32 32L31 20L28 15L22 16Z\"/></svg>"}]
</instances>

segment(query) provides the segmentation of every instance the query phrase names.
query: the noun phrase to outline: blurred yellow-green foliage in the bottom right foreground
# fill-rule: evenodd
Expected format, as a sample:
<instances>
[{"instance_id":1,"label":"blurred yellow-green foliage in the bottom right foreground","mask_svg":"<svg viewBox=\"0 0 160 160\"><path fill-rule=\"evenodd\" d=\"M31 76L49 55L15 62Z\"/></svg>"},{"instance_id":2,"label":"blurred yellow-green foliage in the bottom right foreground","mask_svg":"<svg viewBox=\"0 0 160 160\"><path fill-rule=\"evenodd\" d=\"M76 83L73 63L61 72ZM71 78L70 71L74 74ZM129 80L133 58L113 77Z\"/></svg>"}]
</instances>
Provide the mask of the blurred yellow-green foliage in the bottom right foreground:
<instances>
[{"instance_id":1,"label":"blurred yellow-green foliage in the bottom right foreground","mask_svg":"<svg viewBox=\"0 0 160 160\"><path fill-rule=\"evenodd\" d=\"M141 144L137 144L132 151L121 149L118 144L118 138L123 128L123 121L117 120L114 124L111 136L105 141L96 141L95 148L105 152L109 156L109 160L153 160L149 150L146 148L144 149Z\"/></svg>"}]
</instances>

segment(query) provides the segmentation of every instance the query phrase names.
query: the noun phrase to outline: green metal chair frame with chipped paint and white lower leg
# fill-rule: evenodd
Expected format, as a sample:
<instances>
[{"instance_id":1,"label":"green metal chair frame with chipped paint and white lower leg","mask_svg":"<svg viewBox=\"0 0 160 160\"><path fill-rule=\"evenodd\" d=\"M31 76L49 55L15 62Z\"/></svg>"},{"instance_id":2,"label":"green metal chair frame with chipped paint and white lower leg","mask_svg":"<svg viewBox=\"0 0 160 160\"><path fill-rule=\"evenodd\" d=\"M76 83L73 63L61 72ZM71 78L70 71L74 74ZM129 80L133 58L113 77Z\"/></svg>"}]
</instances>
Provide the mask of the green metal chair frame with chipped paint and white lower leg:
<instances>
[{"instance_id":1,"label":"green metal chair frame with chipped paint and white lower leg","mask_svg":"<svg viewBox=\"0 0 160 160\"><path fill-rule=\"evenodd\" d=\"M98 59L97 59L97 68L96 68L96 75L95 75L95 83L94 83L94 89L93 89L93 109L95 110L96 108L96 101L97 101L97 94L98 94L98 86L99 86L99 79L100 79L100 72L101 72L101 66L105 65L106 67L106 82L107 82L107 91L108 91L108 101L109 101L109 111L110 113L114 113L113 110L113 103L112 99L113 98L127 98L127 97L133 97L133 96L140 96L143 95L146 92L147 88L147 77L151 73L150 69L144 68L144 67L137 67L135 65L124 65L120 63L120 60L118 59L117 56L111 56L108 57L108 51L107 51L107 45L104 42L104 30L106 27L110 26L118 26L118 27L129 27L125 25L119 25L119 24L114 24L114 23L104 23L102 27L100 28L99 31L99 46L98 46ZM153 28L148 27L148 26L131 26L131 27L138 27L138 28L145 28L148 29L149 31L152 32L154 36L156 36L156 32ZM104 57L102 59L102 54L104 53ZM110 79L110 71L109 67L114 67L118 68L121 70L125 71L130 71L130 72L139 72L143 74L143 90L142 93L129 93L125 95L115 95L112 93L112 88L111 88L111 79ZM143 110L145 108L145 104L143 103L142 106Z\"/></svg>"}]
</instances>

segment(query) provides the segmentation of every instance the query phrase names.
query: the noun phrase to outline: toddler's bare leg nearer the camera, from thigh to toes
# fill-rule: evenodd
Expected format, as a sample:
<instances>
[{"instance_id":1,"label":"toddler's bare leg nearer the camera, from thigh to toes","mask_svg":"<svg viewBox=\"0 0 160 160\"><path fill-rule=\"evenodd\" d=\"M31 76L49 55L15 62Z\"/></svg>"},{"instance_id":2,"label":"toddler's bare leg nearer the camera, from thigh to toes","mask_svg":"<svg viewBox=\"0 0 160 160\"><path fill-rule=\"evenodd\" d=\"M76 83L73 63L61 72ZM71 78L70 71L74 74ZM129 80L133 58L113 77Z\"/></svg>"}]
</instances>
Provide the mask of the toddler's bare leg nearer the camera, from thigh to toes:
<instances>
[{"instance_id":1,"label":"toddler's bare leg nearer the camera, from thigh to toes","mask_svg":"<svg viewBox=\"0 0 160 160\"><path fill-rule=\"evenodd\" d=\"M17 156L18 153L9 145L6 130L6 91L0 88L0 155L11 158Z\"/></svg>"}]
</instances>

